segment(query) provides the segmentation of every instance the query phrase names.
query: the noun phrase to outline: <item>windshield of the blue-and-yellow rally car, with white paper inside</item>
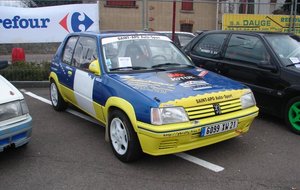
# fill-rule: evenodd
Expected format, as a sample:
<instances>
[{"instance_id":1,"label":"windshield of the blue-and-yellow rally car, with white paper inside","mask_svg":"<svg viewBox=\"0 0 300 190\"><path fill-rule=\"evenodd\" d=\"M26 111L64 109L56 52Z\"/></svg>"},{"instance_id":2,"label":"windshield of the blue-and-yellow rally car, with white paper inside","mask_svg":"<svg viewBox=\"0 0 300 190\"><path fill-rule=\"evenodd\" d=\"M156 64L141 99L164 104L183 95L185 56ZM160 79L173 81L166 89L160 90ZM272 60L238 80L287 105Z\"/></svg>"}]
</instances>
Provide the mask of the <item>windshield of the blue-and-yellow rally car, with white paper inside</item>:
<instances>
[{"instance_id":1,"label":"windshield of the blue-and-yellow rally car, with white paper inside","mask_svg":"<svg viewBox=\"0 0 300 190\"><path fill-rule=\"evenodd\" d=\"M191 66L165 36L135 35L102 39L108 71L157 70Z\"/></svg>"}]
</instances>

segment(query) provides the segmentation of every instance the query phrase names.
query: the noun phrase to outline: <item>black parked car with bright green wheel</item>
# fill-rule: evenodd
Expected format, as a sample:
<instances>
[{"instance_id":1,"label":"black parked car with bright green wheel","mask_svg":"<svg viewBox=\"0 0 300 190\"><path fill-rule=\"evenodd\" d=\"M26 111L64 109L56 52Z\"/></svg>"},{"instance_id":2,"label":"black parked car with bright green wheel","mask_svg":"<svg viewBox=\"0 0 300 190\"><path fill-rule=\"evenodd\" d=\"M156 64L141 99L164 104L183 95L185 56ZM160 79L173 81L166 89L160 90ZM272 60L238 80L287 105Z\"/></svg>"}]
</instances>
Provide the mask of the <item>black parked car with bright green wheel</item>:
<instances>
[{"instance_id":1,"label":"black parked car with bright green wheel","mask_svg":"<svg viewBox=\"0 0 300 190\"><path fill-rule=\"evenodd\" d=\"M208 31L184 51L193 62L249 86L258 107L300 134L300 44L285 33Z\"/></svg>"}]
</instances>

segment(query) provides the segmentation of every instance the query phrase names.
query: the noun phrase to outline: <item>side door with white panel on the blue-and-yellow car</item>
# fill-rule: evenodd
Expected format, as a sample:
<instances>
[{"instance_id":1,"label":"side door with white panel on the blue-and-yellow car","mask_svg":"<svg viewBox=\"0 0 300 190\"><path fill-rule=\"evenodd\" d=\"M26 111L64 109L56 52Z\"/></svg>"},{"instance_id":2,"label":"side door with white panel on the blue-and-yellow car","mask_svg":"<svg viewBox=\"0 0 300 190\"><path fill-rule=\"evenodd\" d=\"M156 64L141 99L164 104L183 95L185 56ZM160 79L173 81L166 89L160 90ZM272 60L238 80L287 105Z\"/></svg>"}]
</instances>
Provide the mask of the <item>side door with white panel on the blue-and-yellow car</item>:
<instances>
[{"instance_id":1,"label":"side door with white panel on the blue-and-yellow car","mask_svg":"<svg viewBox=\"0 0 300 190\"><path fill-rule=\"evenodd\" d=\"M81 36L76 43L72 58L74 76L74 97L78 107L96 117L93 103L94 82L96 77L89 71L89 64L98 59L96 38Z\"/></svg>"}]
</instances>

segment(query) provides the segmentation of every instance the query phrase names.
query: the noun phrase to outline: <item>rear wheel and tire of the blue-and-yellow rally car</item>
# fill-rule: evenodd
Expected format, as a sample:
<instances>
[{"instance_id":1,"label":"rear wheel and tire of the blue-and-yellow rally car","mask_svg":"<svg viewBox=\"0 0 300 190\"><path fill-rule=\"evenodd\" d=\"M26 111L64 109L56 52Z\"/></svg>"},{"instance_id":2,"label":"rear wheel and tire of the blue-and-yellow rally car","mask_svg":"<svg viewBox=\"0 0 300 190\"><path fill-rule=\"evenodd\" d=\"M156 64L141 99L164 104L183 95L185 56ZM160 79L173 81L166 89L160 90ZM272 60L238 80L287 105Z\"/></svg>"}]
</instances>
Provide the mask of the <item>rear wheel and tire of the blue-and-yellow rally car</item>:
<instances>
[{"instance_id":1,"label":"rear wheel and tire of the blue-and-yellow rally car","mask_svg":"<svg viewBox=\"0 0 300 190\"><path fill-rule=\"evenodd\" d=\"M50 82L50 100L56 111L64 111L68 107L53 80Z\"/></svg>"}]
</instances>

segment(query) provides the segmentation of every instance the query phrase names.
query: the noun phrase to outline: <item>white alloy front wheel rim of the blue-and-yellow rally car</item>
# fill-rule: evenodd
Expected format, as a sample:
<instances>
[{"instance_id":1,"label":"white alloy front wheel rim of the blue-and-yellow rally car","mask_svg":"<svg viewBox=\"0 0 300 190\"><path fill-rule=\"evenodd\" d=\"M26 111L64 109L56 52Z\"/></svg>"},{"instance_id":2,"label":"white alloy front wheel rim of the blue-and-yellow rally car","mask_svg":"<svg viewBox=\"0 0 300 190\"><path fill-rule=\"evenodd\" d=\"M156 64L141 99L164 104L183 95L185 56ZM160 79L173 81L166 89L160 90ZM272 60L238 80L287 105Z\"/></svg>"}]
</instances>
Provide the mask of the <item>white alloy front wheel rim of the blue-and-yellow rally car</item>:
<instances>
[{"instance_id":1,"label":"white alloy front wheel rim of the blue-and-yellow rally car","mask_svg":"<svg viewBox=\"0 0 300 190\"><path fill-rule=\"evenodd\" d=\"M119 118L113 118L110 123L110 139L115 151L124 155L128 149L128 134L124 123Z\"/></svg>"}]
</instances>

